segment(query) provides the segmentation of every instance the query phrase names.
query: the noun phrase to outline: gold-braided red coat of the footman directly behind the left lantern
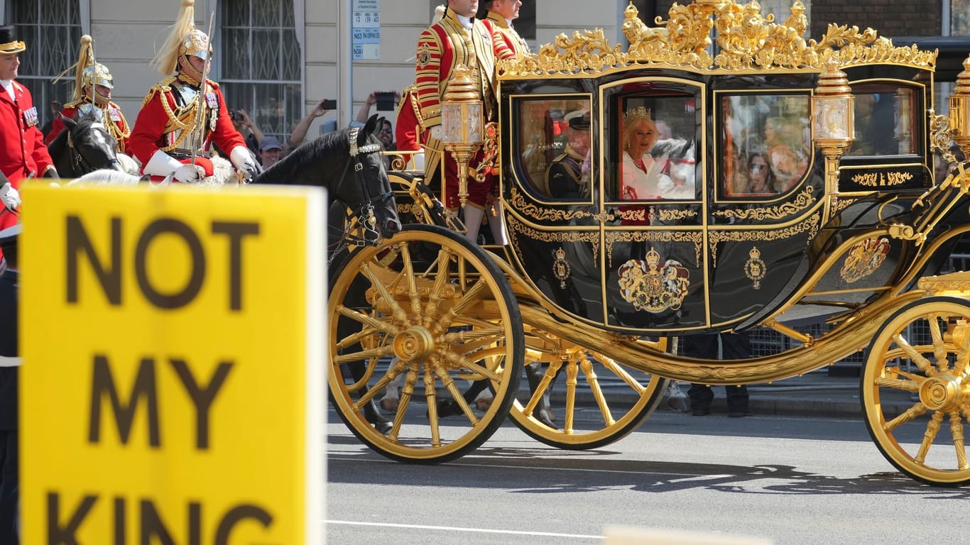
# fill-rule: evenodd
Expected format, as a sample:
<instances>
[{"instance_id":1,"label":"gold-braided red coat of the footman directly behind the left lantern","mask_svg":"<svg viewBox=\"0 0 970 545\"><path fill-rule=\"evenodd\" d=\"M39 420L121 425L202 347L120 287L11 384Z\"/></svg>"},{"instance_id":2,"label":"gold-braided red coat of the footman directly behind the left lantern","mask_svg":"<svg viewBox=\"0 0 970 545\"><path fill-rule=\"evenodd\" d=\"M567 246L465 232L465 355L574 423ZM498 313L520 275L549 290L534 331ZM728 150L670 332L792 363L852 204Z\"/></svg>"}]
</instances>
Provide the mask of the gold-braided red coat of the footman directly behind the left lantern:
<instances>
[{"instance_id":1,"label":"gold-braided red coat of the footman directly behind the left lantern","mask_svg":"<svg viewBox=\"0 0 970 545\"><path fill-rule=\"evenodd\" d=\"M426 131L441 124L441 99L445 86L453 78L455 67L463 64L471 70L471 78L480 90L479 98L484 106L485 121L498 118L496 95L495 59L512 57L514 53L497 40L491 23L471 17L471 29L465 28L454 11L448 10L444 18L429 26L418 39L415 84L423 126ZM435 176L444 147L436 139L427 136L425 176ZM481 162L483 153L472 157L472 168ZM492 189L493 177L485 182L469 180L469 204L484 208ZM458 171L450 153L445 153L444 206L458 208Z\"/></svg>"}]
</instances>

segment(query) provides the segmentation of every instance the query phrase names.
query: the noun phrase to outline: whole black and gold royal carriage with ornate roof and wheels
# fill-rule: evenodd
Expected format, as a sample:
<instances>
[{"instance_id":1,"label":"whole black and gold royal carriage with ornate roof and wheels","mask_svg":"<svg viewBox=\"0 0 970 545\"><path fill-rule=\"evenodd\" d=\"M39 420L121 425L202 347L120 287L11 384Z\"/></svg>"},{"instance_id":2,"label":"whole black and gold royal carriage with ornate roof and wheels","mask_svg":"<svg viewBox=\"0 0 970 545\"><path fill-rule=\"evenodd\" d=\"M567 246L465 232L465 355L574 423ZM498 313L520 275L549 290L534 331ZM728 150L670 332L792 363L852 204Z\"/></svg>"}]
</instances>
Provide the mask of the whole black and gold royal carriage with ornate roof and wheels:
<instances>
[{"instance_id":1,"label":"whole black and gold royal carriage with ornate roof and wheels","mask_svg":"<svg viewBox=\"0 0 970 545\"><path fill-rule=\"evenodd\" d=\"M392 173L413 224L350 246L332 271L330 388L353 433L389 458L437 463L511 414L546 443L593 448L639 426L666 379L766 382L865 350L860 397L889 462L930 484L970 482L970 274L932 275L970 231L970 164L950 153L951 141L970 147L970 58L949 117L936 115L936 51L834 24L806 40L803 12L795 1L781 22L756 2L697 0L649 27L630 5L628 48L587 31L500 62L508 242L469 243L419 177ZM474 126L460 117L474 108L449 104L455 127ZM631 161L643 119L669 127L679 151ZM567 148L580 153L564 190ZM937 155L953 163L945 176ZM806 317L825 333L792 327ZM792 348L747 360L670 349L755 326ZM533 362L544 374L520 396ZM550 427L533 410L557 375ZM400 377L398 411L375 426L368 407ZM627 393L604 394L607 377ZM482 379L495 396L485 410L462 395ZM889 390L919 401L888 414ZM584 395L593 425L578 415ZM914 431L921 443L906 443Z\"/></svg>"}]
</instances>

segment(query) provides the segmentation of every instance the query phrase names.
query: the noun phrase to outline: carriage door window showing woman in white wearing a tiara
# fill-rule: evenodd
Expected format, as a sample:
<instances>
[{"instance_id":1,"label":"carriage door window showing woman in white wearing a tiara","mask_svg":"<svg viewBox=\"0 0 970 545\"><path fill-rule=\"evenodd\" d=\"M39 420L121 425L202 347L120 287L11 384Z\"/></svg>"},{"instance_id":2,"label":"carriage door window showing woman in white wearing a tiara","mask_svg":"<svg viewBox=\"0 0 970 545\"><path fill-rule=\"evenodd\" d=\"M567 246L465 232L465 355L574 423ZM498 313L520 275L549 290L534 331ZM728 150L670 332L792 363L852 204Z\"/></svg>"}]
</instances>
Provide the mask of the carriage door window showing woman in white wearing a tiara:
<instances>
[{"instance_id":1,"label":"carriage door window showing woman in white wearing a tiara","mask_svg":"<svg viewBox=\"0 0 970 545\"><path fill-rule=\"evenodd\" d=\"M695 96L660 93L616 98L609 187L615 200L696 199Z\"/></svg>"}]
</instances>

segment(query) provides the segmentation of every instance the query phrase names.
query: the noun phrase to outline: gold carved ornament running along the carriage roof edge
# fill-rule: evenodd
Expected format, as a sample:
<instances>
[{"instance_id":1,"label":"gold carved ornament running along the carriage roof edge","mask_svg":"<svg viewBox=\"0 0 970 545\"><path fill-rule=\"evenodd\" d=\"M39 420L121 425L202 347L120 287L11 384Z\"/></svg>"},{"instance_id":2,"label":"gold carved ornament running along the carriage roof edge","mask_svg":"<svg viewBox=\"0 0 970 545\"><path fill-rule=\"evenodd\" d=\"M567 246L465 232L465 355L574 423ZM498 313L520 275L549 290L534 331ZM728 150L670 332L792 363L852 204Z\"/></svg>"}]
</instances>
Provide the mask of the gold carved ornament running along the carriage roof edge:
<instances>
[{"instance_id":1,"label":"gold carved ornament running along the carriage roof edge","mask_svg":"<svg viewBox=\"0 0 970 545\"><path fill-rule=\"evenodd\" d=\"M663 64L700 72L750 72L764 70L821 70L824 61L835 56L842 67L871 63L893 63L933 69L936 51L895 47L875 30L829 24L818 42L806 41L805 6L800 0L784 23L772 14L761 15L757 2L738 4L698 1L674 3L666 20L658 16L656 27L648 27L630 2L623 32L630 48L611 46L602 30L575 32L556 37L538 53L498 61L500 76L598 74L639 64ZM712 30L717 30L721 48L716 57L708 52Z\"/></svg>"}]
</instances>

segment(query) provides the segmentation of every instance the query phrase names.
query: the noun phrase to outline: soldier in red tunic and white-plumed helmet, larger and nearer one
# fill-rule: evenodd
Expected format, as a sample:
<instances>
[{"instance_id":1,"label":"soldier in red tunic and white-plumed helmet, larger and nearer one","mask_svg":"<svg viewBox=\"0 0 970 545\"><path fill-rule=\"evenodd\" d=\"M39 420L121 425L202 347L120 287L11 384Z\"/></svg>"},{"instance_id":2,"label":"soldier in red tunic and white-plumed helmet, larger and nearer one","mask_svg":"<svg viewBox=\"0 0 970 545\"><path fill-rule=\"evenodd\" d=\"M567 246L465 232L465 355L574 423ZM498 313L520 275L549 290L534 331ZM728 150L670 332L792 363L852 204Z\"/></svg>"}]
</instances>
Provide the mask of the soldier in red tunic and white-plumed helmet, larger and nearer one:
<instances>
[{"instance_id":1,"label":"soldier in red tunic and white-plumed helmet, larger and nearer one","mask_svg":"<svg viewBox=\"0 0 970 545\"><path fill-rule=\"evenodd\" d=\"M148 90L129 146L146 175L174 173L181 182L212 176L215 144L242 176L256 176L262 169L233 126L219 85L205 77L212 50L209 36L195 28L193 4L182 0L172 33L152 59L166 78Z\"/></svg>"}]
</instances>

